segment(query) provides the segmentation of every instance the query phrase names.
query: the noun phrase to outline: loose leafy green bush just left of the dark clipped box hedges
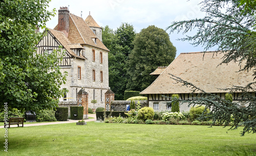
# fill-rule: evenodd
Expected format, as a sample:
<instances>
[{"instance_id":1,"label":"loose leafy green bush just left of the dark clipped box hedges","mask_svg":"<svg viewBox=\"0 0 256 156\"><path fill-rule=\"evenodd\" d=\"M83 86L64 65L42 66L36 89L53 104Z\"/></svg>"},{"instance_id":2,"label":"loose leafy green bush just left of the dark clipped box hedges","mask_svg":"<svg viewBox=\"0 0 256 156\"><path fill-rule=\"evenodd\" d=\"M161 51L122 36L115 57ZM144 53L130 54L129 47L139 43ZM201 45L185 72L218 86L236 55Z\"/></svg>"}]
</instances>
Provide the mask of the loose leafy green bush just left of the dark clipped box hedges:
<instances>
[{"instance_id":1,"label":"loose leafy green bush just left of the dark clipped box hedges","mask_svg":"<svg viewBox=\"0 0 256 156\"><path fill-rule=\"evenodd\" d=\"M35 113L36 113L36 122L57 121L55 118L55 112L53 110L44 109L44 110L38 110Z\"/></svg>"}]
</instances>

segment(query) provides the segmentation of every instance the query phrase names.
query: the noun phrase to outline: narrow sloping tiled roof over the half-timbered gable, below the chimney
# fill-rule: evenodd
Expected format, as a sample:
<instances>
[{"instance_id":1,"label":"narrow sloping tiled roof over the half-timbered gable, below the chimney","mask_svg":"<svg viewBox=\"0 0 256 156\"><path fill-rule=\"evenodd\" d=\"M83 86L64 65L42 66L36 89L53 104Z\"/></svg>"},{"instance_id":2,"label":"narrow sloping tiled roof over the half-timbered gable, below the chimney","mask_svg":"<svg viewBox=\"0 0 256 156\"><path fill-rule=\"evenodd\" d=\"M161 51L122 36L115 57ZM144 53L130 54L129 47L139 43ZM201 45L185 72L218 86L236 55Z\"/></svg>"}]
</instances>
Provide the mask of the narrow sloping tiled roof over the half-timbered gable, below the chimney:
<instances>
[{"instance_id":1,"label":"narrow sloping tiled roof over the half-timbered gable, below the chimney","mask_svg":"<svg viewBox=\"0 0 256 156\"><path fill-rule=\"evenodd\" d=\"M49 28L48 28L49 29ZM71 54L74 57L80 58L80 59L86 59L83 56L77 56L70 48L73 47L72 43L69 41L69 39L66 37L66 35L62 32L49 29L50 33L52 33L53 36L56 37L56 39L60 42L60 44L67 50L69 54ZM77 45L74 45L77 46Z\"/></svg>"}]
</instances>

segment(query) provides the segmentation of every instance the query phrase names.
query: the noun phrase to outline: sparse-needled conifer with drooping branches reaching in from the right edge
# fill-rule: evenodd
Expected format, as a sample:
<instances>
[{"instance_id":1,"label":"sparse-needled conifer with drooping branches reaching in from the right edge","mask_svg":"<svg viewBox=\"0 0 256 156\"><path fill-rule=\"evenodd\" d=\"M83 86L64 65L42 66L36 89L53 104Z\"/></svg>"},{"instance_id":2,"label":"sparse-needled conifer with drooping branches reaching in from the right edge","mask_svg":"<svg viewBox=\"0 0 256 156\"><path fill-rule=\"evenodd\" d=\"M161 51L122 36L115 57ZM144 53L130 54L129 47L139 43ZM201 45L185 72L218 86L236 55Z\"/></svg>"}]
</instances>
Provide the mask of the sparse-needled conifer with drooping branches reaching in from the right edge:
<instances>
[{"instance_id":1,"label":"sparse-needled conifer with drooping branches reaching in from the right edge","mask_svg":"<svg viewBox=\"0 0 256 156\"><path fill-rule=\"evenodd\" d=\"M201 11L206 13L204 18L193 19L188 21L176 21L170 25L171 32L183 31L187 33L191 29L198 28L198 32L194 36L187 36L181 40L192 41L194 45L204 45L205 50L213 46L218 46L217 50L224 53L223 62L231 61L238 62L241 65L241 70L251 70L255 68L255 21L254 16L255 2L254 1L236 1L236 0L205 0L201 3ZM245 62L245 65L242 64ZM254 70L254 76L256 76ZM228 125L233 116L233 126L230 129L237 129L244 125L241 133L256 132L256 98L250 92L255 92L255 82L247 86L235 86L234 88L225 89L232 92L242 92L241 101L232 102L225 100L219 96L197 88L195 85L181 80L179 77L170 74L177 82L193 88L194 91L200 91L200 96L181 102L188 102L189 105L205 105L211 111L203 114L201 118L213 119ZM239 103L247 104L247 107L241 107Z\"/></svg>"}]
</instances>

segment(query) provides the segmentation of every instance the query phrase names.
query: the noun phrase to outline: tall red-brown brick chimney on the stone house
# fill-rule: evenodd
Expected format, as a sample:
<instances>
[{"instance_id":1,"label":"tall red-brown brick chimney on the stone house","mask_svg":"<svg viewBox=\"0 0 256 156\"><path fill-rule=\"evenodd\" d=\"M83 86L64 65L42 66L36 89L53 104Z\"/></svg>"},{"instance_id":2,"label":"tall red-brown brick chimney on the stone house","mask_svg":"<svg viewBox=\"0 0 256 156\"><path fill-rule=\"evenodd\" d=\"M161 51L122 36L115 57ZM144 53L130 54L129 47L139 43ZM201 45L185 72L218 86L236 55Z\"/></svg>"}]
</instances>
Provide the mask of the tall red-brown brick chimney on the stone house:
<instances>
[{"instance_id":1,"label":"tall red-brown brick chimney on the stone house","mask_svg":"<svg viewBox=\"0 0 256 156\"><path fill-rule=\"evenodd\" d=\"M60 7L58 16L58 31L69 36L69 10L68 7Z\"/></svg>"}]
</instances>

